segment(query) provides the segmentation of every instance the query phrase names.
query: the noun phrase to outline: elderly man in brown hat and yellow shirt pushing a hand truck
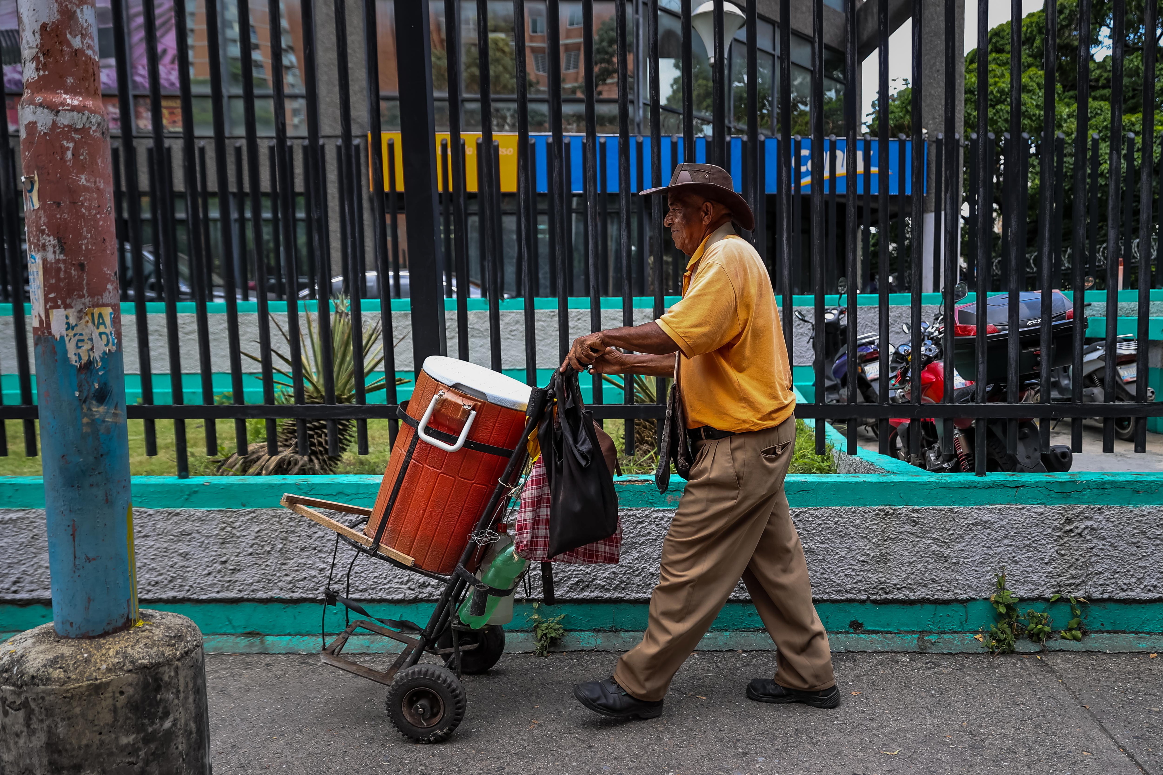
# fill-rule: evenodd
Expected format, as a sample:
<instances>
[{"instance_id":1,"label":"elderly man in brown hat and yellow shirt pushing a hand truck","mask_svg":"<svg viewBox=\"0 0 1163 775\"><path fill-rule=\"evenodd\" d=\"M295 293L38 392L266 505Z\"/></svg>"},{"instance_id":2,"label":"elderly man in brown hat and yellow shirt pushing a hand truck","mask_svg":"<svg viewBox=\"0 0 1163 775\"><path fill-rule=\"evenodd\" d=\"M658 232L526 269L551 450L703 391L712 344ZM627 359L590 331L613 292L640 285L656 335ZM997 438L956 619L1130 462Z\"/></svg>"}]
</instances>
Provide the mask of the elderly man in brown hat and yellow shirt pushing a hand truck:
<instances>
[{"instance_id":1,"label":"elderly man in brown hat and yellow shirt pushing a hand truck","mask_svg":"<svg viewBox=\"0 0 1163 775\"><path fill-rule=\"evenodd\" d=\"M784 495L795 443L787 349L763 261L732 227L754 228L754 215L712 164L680 164L669 186L642 193L668 194L663 222L690 256L683 298L658 320L579 336L566 363L677 378L697 452L642 642L612 678L577 684L573 695L605 716L661 714L671 680L742 577L778 647L775 680L751 681L747 697L836 708L828 635Z\"/></svg>"}]
</instances>

